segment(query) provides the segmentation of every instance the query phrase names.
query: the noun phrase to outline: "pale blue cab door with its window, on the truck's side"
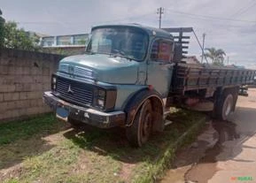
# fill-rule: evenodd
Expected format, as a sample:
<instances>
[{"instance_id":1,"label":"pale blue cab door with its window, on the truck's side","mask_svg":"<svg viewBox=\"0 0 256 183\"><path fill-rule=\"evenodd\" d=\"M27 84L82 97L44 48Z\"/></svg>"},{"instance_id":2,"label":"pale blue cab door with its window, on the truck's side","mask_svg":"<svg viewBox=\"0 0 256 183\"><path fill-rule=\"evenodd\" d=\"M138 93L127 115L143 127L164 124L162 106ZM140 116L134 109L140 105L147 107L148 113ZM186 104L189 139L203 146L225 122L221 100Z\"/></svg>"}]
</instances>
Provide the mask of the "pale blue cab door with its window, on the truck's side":
<instances>
[{"instance_id":1,"label":"pale blue cab door with its window, on the truck's side","mask_svg":"<svg viewBox=\"0 0 256 183\"><path fill-rule=\"evenodd\" d=\"M151 44L151 53L147 68L147 85L166 98L173 74L174 42L156 39Z\"/></svg>"}]
</instances>

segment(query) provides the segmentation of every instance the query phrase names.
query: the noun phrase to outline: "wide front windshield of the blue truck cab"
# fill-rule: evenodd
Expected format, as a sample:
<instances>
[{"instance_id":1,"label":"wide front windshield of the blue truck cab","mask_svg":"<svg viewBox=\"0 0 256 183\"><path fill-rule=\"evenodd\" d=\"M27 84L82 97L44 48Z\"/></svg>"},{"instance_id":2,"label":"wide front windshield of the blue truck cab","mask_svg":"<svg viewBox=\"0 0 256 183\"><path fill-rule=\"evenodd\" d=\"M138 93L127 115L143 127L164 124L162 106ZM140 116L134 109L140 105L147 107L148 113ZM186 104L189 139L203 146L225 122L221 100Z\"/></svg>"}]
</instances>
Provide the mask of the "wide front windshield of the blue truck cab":
<instances>
[{"instance_id":1,"label":"wide front windshield of the blue truck cab","mask_svg":"<svg viewBox=\"0 0 256 183\"><path fill-rule=\"evenodd\" d=\"M148 36L140 29L104 27L92 31L87 52L142 61L146 56L147 48Z\"/></svg>"}]
</instances>

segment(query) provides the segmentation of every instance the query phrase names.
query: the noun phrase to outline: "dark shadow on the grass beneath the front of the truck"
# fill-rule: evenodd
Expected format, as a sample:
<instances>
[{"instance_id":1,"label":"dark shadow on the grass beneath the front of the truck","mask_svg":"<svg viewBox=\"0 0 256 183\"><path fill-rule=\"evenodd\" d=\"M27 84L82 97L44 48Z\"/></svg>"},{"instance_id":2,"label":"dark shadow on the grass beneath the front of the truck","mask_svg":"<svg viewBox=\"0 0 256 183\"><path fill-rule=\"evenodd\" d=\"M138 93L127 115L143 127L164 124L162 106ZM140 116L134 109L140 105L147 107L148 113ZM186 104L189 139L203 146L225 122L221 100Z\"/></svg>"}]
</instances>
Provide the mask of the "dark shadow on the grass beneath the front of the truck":
<instances>
[{"instance_id":1,"label":"dark shadow on the grass beneath the front of the truck","mask_svg":"<svg viewBox=\"0 0 256 183\"><path fill-rule=\"evenodd\" d=\"M81 149L92 150L100 156L112 156L128 164L143 161L153 163L161 153L167 150L167 144L170 144L170 141L175 143L182 133L203 117L204 115L191 111L177 111L169 117L174 123L167 126L163 133L153 135L151 140L140 149L129 145L124 128L105 130L82 126L64 133L64 136L74 141Z\"/></svg>"}]
</instances>

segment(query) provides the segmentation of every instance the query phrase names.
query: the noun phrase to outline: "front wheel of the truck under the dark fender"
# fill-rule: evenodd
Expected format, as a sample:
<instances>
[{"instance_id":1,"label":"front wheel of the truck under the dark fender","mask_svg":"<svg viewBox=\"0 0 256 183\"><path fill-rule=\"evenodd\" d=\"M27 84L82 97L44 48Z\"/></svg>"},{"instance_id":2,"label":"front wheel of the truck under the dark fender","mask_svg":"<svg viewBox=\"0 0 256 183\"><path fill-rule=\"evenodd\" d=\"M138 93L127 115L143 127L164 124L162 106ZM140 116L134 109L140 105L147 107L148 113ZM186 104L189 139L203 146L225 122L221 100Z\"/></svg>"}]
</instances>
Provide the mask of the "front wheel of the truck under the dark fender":
<instances>
[{"instance_id":1,"label":"front wheel of the truck under the dark fender","mask_svg":"<svg viewBox=\"0 0 256 183\"><path fill-rule=\"evenodd\" d=\"M151 101L146 100L137 111L132 126L126 128L129 143L133 147L142 147L149 140L153 124Z\"/></svg>"}]
</instances>

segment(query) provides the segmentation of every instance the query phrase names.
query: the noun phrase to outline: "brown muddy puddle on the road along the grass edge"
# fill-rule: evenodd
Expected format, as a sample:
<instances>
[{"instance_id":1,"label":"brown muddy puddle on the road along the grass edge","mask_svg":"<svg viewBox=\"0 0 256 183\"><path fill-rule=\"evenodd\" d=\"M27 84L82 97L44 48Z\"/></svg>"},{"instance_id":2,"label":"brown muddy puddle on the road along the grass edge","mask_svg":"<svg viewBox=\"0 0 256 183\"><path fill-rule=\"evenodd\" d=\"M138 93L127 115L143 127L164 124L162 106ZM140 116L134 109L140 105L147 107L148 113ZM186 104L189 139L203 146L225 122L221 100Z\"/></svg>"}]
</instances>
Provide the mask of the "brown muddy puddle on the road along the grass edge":
<instances>
[{"instance_id":1,"label":"brown muddy puddle on the road along the grass edge","mask_svg":"<svg viewBox=\"0 0 256 183\"><path fill-rule=\"evenodd\" d=\"M161 183L198 182L205 183L219 171L218 157L223 153L225 141L235 141L240 138L236 131L236 124L229 121L213 121L206 126L204 133L190 148L177 152L173 168ZM232 156L225 155L225 159Z\"/></svg>"}]
</instances>

